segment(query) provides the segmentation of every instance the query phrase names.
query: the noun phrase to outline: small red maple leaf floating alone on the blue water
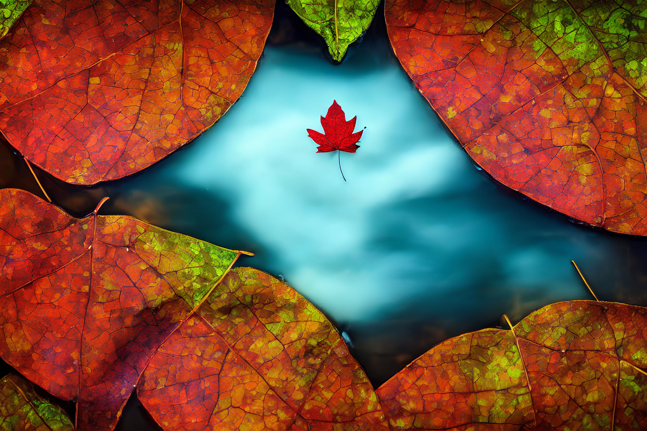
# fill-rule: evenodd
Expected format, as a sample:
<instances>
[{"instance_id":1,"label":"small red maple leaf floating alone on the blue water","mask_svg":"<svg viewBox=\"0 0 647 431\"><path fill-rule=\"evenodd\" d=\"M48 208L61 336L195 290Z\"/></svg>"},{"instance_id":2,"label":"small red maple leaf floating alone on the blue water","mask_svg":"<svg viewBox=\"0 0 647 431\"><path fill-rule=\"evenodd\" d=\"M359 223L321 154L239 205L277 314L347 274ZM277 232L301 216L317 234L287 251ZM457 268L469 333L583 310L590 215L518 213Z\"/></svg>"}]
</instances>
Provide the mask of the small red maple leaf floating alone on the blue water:
<instances>
[{"instance_id":1,"label":"small red maple leaf floating alone on the blue water","mask_svg":"<svg viewBox=\"0 0 647 431\"><path fill-rule=\"evenodd\" d=\"M322 116L321 118L324 133L322 134L313 129L306 130L308 131L308 136L313 138L313 141L319 145L317 152L330 152L335 150L355 152L360 147L356 145L356 142L359 142L362 137L362 132L364 132L359 131L353 133L356 120L357 116L354 116L351 120L346 121L342 107L339 106L336 100L333 100L333 104L328 108L325 117ZM342 162L339 156L337 159L339 162L339 171L342 172ZM346 180L343 172L342 178L344 178L344 181Z\"/></svg>"}]
</instances>

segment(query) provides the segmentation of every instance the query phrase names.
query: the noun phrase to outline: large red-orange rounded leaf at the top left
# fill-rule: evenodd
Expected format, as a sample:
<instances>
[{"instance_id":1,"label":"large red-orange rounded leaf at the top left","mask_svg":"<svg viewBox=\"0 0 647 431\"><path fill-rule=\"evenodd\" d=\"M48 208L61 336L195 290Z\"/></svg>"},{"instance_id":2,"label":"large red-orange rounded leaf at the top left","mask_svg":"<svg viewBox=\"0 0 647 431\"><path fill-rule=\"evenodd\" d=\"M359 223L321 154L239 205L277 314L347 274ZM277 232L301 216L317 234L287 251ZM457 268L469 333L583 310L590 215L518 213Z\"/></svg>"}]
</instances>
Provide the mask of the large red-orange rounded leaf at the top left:
<instances>
[{"instance_id":1,"label":"large red-orange rounded leaf at the top left","mask_svg":"<svg viewBox=\"0 0 647 431\"><path fill-rule=\"evenodd\" d=\"M0 131L74 184L135 173L217 121L274 0L37 0L0 42Z\"/></svg>"}]
</instances>

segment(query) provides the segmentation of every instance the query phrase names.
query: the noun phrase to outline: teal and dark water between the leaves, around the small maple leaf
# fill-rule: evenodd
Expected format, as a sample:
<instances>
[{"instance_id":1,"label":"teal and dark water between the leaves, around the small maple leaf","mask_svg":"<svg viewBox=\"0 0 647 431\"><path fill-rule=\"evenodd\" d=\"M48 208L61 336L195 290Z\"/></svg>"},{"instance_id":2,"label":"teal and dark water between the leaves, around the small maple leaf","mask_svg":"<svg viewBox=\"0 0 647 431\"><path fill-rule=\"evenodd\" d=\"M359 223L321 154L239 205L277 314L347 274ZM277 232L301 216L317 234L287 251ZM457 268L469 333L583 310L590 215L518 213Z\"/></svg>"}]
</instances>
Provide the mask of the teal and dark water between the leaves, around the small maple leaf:
<instances>
[{"instance_id":1,"label":"teal and dark water between the leaves, around the small maple leaf","mask_svg":"<svg viewBox=\"0 0 647 431\"><path fill-rule=\"evenodd\" d=\"M56 204L151 224L234 249L282 275L351 337L377 386L437 342L513 322L551 302L646 305L647 243L581 226L498 185L455 143L393 57L383 14L341 65L278 5L244 96L212 129L143 173L74 187L38 171ZM361 148L315 154L306 128L337 100ZM2 152L4 151L4 152ZM0 186L41 195L0 147ZM134 397L122 430L146 429Z\"/></svg>"}]
</instances>

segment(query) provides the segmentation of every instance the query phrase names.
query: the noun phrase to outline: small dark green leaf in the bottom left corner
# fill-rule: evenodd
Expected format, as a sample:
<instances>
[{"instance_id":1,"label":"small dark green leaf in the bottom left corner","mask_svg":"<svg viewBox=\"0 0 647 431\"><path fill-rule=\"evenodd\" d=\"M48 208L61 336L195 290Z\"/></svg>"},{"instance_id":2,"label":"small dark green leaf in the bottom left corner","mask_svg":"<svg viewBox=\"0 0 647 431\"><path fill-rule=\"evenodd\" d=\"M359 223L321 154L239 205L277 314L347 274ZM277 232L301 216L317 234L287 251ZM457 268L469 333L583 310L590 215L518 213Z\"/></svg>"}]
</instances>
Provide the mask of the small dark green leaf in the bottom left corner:
<instances>
[{"instance_id":1,"label":"small dark green leaf in the bottom left corner","mask_svg":"<svg viewBox=\"0 0 647 431\"><path fill-rule=\"evenodd\" d=\"M74 425L63 409L36 394L31 383L9 374L0 380L0 429L73 431Z\"/></svg>"}]
</instances>

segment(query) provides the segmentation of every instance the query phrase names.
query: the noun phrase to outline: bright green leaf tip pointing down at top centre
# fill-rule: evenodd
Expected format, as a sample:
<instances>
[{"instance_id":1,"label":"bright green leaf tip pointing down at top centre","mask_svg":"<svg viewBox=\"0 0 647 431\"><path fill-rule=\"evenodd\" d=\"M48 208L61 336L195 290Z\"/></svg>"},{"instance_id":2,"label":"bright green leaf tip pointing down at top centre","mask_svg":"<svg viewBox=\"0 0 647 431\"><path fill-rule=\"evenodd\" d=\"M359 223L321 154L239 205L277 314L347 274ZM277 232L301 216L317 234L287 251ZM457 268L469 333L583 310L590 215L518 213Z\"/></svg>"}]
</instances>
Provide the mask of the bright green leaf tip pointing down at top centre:
<instances>
[{"instance_id":1,"label":"bright green leaf tip pointing down at top centre","mask_svg":"<svg viewBox=\"0 0 647 431\"><path fill-rule=\"evenodd\" d=\"M348 45L371 25L378 0L286 0L303 22L320 34L334 61L342 61Z\"/></svg>"}]
</instances>

